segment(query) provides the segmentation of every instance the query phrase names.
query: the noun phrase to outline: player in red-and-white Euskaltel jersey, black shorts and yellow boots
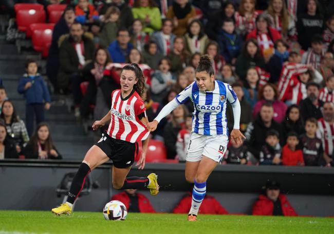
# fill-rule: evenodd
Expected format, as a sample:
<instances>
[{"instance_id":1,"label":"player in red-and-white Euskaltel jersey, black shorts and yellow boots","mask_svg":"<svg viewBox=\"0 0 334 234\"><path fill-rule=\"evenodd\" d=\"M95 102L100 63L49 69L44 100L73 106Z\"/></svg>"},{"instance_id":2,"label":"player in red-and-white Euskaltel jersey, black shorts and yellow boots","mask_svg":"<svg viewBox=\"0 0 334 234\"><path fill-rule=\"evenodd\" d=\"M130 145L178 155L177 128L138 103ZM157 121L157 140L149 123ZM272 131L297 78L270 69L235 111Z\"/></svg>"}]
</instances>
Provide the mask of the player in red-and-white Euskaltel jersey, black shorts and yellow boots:
<instances>
[{"instance_id":1,"label":"player in red-and-white Euskaltel jersey, black shorts and yellow boots","mask_svg":"<svg viewBox=\"0 0 334 234\"><path fill-rule=\"evenodd\" d=\"M144 76L135 63L128 64L121 71L121 89L112 93L112 107L101 120L95 121L92 129L96 130L110 121L108 131L88 152L68 192L67 202L53 208L55 214L70 214L72 205L80 194L86 176L91 170L113 160L113 187L115 189L138 189L146 187L152 195L159 192L157 175L147 177L126 177L138 153L138 141L143 141L143 151L136 166L143 169L149 143L149 131L145 125L149 122L145 113L145 104L141 99L144 92Z\"/></svg>"}]
</instances>

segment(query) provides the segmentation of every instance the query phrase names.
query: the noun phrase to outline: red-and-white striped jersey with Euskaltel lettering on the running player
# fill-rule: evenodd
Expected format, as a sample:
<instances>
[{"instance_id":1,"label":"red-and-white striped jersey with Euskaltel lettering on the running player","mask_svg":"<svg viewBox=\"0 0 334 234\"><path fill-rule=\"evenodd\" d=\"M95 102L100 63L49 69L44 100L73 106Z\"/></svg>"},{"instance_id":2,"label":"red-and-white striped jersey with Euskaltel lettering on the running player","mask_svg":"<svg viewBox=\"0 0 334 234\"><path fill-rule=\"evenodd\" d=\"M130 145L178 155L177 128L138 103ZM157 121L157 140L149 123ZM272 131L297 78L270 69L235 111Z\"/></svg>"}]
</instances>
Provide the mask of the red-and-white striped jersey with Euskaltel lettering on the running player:
<instances>
[{"instance_id":1,"label":"red-and-white striped jersey with Euskaltel lettering on the running player","mask_svg":"<svg viewBox=\"0 0 334 234\"><path fill-rule=\"evenodd\" d=\"M132 143L145 140L150 132L138 118L145 110L145 103L136 91L123 99L121 89L116 89L112 93L112 118L107 134Z\"/></svg>"}]
</instances>

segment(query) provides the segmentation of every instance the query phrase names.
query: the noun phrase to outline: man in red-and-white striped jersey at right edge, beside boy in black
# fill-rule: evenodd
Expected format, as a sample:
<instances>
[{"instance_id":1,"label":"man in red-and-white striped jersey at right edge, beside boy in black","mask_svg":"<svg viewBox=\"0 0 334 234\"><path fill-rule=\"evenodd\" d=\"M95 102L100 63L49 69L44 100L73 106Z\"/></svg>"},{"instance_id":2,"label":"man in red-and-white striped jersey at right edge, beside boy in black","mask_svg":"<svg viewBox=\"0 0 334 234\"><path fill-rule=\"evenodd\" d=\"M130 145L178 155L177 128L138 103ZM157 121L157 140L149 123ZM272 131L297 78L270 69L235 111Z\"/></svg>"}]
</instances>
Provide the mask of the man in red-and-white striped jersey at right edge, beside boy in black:
<instances>
[{"instance_id":1,"label":"man in red-and-white striped jersey at right edge, beside boy in black","mask_svg":"<svg viewBox=\"0 0 334 234\"><path fill-rule=\"evenodd\" d=\"M326 165L334 166L334 103L324 103L323 116L318 120L317 137L322 140Z\"/></svg>"}]
</instances>

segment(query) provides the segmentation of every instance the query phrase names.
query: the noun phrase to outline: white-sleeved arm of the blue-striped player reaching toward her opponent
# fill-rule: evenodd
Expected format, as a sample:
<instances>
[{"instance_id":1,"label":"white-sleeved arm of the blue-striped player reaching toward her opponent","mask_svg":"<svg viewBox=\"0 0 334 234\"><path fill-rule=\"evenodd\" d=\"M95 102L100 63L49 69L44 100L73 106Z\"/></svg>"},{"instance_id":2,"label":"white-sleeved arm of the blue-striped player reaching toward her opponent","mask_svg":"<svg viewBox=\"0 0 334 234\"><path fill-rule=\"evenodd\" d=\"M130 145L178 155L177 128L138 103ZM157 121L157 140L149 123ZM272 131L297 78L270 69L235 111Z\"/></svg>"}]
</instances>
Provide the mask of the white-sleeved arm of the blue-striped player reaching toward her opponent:
<instances>
[{"instance_id":1,"label":"white-sleeved arm of the blue-striped player reaching toward her opponent","mask_svg":"<svg viewBox=\"0 0 334 234\"><path fill-rule=\"evenodd\" d=\"M184 90L181 93L176 95L176 97L172 101L166 104L162 108L158 116L155 117L155 119L152 122L147 123L146 125L147 130L149 130L150 132L153 132L154 130L156 130L158 123L160 122L161 119L169 115L177 106L187 102L191 97L191 90L192 90L192 86L194 83L184 88Z\"/></svg>"}]
</instances>

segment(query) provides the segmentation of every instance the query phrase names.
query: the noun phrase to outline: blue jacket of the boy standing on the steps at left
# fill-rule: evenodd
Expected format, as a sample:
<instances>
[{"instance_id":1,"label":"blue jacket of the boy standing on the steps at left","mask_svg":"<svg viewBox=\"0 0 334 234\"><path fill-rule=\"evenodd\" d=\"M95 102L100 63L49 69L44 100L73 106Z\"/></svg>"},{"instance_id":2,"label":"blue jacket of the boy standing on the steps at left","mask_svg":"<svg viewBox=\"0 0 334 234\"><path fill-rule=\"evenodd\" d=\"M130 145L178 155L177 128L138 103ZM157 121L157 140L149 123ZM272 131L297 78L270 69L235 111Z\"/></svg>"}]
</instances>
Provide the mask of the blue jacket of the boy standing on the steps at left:
<instances>
[{"instance_id":1,"label":"blue jacket of the boy standing on the steps at left","mask_svg":"<svg viewBox=\"0 0 334 234\"><path fill-rule=\"evenodd\" d=\"M24 86L27 82L31 82L32 85L27 90ZM29 77L28 74L24 74L17 86L17 92L24 94L26 104L50 102L49 91L43 81L40 74L35 77Z\"/></svg>"}]
</instances>

